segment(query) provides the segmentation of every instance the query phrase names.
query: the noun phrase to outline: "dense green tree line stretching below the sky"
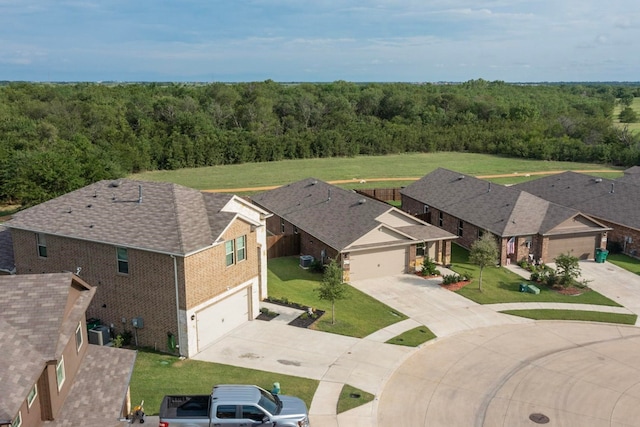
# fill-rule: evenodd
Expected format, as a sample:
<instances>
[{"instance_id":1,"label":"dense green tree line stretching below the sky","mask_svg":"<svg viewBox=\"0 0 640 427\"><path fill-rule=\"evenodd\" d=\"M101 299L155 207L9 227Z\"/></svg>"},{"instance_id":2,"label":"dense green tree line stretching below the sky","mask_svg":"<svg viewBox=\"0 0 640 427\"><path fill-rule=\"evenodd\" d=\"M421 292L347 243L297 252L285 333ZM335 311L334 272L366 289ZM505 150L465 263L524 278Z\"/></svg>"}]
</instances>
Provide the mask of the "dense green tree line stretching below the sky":
<instances>
[{"instance_id":1,"label":"dense green tree line stretching below the sky","mask_svg":"<svg viewBox=\"0 0 640 427\"><path fill-rule=\"evenodd\" d=\"M614 84L0 85L0 200L33 204L132 172L471 151L633 165Z\"/></svg>"}]
</instances>

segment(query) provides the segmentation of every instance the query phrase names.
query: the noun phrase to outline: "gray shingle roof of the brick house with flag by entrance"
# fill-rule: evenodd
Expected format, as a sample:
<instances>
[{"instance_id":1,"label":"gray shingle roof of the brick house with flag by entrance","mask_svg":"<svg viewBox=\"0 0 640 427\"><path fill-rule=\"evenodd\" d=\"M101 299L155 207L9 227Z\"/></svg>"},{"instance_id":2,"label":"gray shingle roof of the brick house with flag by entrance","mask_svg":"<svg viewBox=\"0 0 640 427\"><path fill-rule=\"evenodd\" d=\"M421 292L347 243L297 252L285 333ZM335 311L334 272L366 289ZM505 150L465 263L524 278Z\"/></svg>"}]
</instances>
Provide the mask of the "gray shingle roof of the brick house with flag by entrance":
<instances>
[{"instance_id":1,"label":"gray shingle roof of the brick house with flag by entrance","mask_svg":"<svg viewBox=\"0 0 640 427\"><path fill-rule=\"evenodd\" d=\"M545 234L580 214L519 189L443 168L401 193L502 237Z\"/></svg>"}]
</instances>

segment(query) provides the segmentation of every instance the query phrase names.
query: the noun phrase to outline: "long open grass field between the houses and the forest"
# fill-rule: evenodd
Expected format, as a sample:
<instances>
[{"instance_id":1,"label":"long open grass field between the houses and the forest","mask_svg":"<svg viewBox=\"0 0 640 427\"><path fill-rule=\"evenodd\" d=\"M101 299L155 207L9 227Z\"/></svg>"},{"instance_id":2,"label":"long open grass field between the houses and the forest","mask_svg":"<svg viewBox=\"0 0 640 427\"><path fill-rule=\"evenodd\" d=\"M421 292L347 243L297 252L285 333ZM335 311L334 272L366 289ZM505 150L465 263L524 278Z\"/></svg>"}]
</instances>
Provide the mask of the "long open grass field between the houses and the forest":
<instances>
[{"instance_id":1,"label":"long open grass field between the houses and the forest","mask_svg":"<svg viewBox=\"0 0 640 427\"><path fill-rule=\"evenodd\" d=\"M474 176L564 170L609 170L608 175L622 176L621 169L590 163L546 162L487 154L441 152L246 163L145 172L132 175L130 178L174 182L201 190L278 186L309 177L323 181L351 181L341 184L346 188L372 188L407 185L412 182L412 179L420 178L438 167ZM408 178L408 180L368 181L373 178ZM514 177L514 179L516 181L504 183L517 182L525 177ZM361 180L367 182L361 183Z\"/></svg>"}]
</instances>

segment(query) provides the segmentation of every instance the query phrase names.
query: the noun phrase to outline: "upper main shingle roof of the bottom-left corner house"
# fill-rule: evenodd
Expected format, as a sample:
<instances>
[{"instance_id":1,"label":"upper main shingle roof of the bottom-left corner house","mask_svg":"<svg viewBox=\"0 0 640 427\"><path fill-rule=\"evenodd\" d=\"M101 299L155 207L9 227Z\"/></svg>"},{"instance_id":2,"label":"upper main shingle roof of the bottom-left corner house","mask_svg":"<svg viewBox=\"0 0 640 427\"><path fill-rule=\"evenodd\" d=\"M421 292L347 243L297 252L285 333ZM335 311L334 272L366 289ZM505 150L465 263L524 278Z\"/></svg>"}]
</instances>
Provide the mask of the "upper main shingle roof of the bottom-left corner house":
<instances>
[{"instance_id":1,"label":"upper main shingle roof of the bottom-left corner house","mask_svg":"<svg viewBox=\"0 0 640 427\"><path fill-rule=\"evenodd\" d=\"M71 273L0 276L0 419L10 419L42 373L57 360L95 294L84 288L65 316ZM10 387L4 386L11 384Z\"/></svg>"}]
</instances>

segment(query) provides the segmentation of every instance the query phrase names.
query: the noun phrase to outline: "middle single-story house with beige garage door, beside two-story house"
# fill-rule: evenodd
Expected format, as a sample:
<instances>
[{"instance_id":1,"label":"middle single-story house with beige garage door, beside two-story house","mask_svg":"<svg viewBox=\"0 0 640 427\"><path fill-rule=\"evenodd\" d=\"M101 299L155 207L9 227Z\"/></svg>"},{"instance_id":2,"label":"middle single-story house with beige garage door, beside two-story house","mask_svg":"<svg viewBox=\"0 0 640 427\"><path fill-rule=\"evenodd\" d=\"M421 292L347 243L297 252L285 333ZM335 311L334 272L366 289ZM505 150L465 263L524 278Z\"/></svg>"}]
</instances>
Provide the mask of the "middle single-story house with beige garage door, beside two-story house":
<instances>
[{"instance_id":1,"label":"middle single-story house with beige garage door, beside two-story house","mask_svg":"<svg viewBox=\"0 0 640 427\"><path fill-rule=\"evenodd\" d=\"M309 178L252 197L272 212L272 235L297 235L300 253L335 259L345 281L407 273L423 257L448 264L456 237L386 203Z\"/></svg>"}]
</instances>

